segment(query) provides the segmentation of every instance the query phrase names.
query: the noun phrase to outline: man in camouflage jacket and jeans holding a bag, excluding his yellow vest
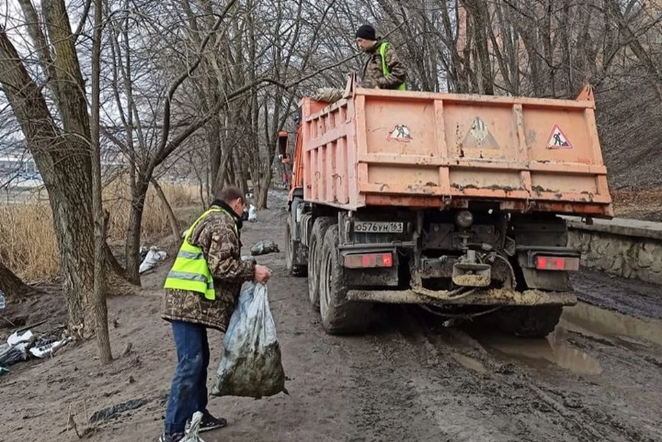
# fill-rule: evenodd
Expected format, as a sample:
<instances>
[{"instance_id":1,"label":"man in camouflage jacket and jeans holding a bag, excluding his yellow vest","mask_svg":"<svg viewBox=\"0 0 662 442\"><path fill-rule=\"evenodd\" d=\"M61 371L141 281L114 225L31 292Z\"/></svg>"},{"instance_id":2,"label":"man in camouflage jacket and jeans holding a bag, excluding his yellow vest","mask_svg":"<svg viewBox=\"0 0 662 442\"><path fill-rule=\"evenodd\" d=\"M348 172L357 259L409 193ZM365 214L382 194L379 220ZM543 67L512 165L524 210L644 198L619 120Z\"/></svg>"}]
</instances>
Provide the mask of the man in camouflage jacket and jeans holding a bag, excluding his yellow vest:
<instances>
[{"instance_id":1,"label":"man in camouflage jacket and jeans holding a bag, excluding his yellow vest","mask_svg":"<svg viewBox=\"0 0 662 442\"><path fill-rule=\"evenodd\" d=\"M265 283L271 271L252 261L241 260L241 214L245 209L243 194L236 187L221 191L212 209L192 226L188 243L201 249L214 279L216 299L203 293L166 289L163 296L163 319L172 325L177 346L177 370L172 380L165 432L161 442L177 442L183 437L185 423L194 412L203 413L201 431L224 427L225 419L213 417L207 410L207 368L209 344L207 328L225 332L237 305L244 282Z\"/></svg>"}]
</instances>

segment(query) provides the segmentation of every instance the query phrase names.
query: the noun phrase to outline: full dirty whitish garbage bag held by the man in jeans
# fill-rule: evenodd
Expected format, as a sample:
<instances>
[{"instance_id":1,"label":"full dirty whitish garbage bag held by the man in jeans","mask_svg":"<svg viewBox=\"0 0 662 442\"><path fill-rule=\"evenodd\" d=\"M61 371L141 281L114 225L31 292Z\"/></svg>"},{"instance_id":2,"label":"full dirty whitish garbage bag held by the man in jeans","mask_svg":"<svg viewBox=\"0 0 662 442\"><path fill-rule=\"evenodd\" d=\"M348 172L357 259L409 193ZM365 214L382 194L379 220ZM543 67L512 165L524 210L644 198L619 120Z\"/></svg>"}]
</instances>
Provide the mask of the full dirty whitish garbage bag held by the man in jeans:
<instances>
[{"instance_id":1,"label":"full dirty whitish garbage bag held by the man in jeans","mask_svg":"<svg viewBox=\"0 0 662 442\"><path fill-rule=\"evenodd\" d=\"M267 287L247 282L225 333L211 394L260 399L279 392L289 394Z\"/></svg>"}]
</instances>

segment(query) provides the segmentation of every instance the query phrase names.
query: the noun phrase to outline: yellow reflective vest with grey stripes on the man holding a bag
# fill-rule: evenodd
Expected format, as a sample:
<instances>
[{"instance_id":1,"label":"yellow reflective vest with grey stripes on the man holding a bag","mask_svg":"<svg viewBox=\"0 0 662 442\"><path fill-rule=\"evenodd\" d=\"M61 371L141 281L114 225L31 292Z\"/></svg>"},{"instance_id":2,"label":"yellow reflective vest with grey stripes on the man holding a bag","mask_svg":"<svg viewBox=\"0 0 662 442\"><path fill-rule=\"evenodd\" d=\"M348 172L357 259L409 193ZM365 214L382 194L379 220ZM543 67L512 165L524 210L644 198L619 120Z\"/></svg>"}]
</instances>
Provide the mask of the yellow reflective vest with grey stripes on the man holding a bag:
<instances>
[{"instance_id":1,"label":"yellow reflective vest with grey stripes on the man holding a bag","mask_svg":"<svg viewBox=\"0 0 662 442\"><path fill-rule=\"evenodd\" d=\"M216 291L214 291L214 278L209 271L207 260L202 249L198 246L193 246L188 242L190 235L193 233L195 227L212 212L225 212L224 209L219 207L211 207L198 217L197 220L191 224L191 227L186 231L184 241L177 253L177 259L172 264L172 269L165 278L163 288L170 288L173 290L184 290L201 293L206 299L214 301L216 299ZM237 224L234 224L234 233L239 235L237 231Z\"/></svg>"}]
</instances>

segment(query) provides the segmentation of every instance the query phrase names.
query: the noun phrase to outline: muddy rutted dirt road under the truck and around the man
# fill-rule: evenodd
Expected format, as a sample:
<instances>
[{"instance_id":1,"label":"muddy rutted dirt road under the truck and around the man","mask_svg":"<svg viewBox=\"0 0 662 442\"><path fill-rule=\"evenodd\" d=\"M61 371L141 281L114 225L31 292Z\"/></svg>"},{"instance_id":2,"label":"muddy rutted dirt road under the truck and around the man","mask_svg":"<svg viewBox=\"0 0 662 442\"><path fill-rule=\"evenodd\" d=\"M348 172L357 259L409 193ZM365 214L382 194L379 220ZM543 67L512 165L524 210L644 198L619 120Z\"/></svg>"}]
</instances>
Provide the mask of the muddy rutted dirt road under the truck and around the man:
<instances>
[{"instance_id":1,"label":"muddy rutted dirt road under the truck and around the man","mask_svg":"<svg viewBox=\"0 0 662 442\"><path fill-rule=\"evenodd\" d=\"M246 249L274 239L283 250L282 224L282 213L261 213L245 227ZM446 327L415 306L381 308L369 335L341 338L323 333L283 253L259 262L274 269L270 302L290 396L210 399L230 424L203 434L206 442L662 441L658 287L582 274L581 295L605 309L566 309L547 339ZM158 315L168 264L145 278L141 296L110 300L114 351L132 342L128 355L101 368L90 341L0 378L0 441L75 441L69 414L80 432L94 412L128 401L134 409L92 425L89 440L157 438L175 360ZM222 336L210 341L211 382Z\"/></svg>"}]
</instances>

